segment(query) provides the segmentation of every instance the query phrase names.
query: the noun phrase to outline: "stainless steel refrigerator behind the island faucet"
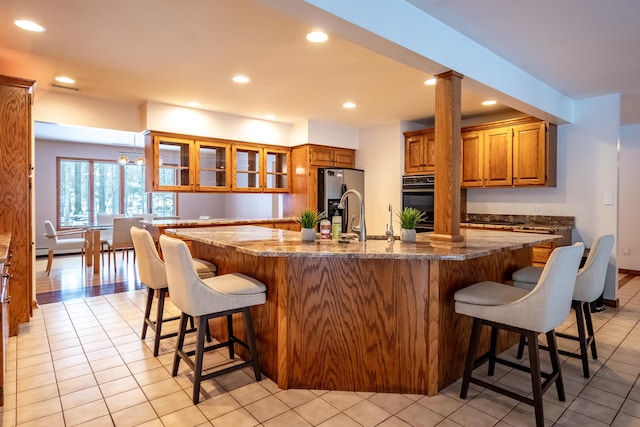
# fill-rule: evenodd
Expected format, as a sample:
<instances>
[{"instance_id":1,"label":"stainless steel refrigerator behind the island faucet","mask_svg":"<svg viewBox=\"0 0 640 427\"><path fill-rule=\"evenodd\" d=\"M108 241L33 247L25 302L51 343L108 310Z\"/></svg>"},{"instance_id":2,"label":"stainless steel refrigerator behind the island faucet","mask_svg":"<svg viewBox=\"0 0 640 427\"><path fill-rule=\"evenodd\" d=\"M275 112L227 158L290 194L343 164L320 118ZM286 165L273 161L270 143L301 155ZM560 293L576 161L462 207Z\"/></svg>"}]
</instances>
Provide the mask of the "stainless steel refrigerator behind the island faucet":
<instances>
[{"instance_id":1,"label":"stainless steel refrigerator behind the island faucet","mask_svg":"<svg viewBox=\"0 0 640 427\"><path fill-rule=\"evenodd\" d=\"M360 224L360 202L349 194L344 209L338 209L340 198L347 190L357 190L364 203L364 171L349 168L318 169L318 210L331 220L337 211L342 216L342 232L351 232L352 225Z\"/></svg>"}]
</instances>

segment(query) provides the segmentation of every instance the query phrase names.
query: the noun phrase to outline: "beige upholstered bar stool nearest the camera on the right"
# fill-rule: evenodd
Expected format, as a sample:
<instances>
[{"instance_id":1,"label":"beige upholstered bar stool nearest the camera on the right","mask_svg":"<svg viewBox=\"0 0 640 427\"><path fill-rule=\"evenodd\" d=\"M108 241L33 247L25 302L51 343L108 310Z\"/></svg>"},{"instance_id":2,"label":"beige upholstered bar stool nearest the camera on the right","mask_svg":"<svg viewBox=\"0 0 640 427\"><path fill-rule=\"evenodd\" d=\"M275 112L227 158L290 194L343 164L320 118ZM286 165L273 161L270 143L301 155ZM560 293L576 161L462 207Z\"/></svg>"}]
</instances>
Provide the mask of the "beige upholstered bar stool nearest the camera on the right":
<instances>
[{"instance_id":1,"label":"beige upholstered bar stool nearest the camera on the right","mask_svg":"<svg viewBox=\"0 0 640 427\"><path fill-rule=\"evenodd\" d=\"M555 249L549 257L539 282L531 291L485 281L455 293L456 313L473 318L469 350L460 390L462 399L467 397L469 384L474 383L532 405L536 415L536 426L544 426L543 393L555 384L558 399L565 400L554 328L561 324L569 314L571 296L576 281L575 275L583 251L584 245L582 243ZM476 358L483 325L491 328L489 351ZM500 329L523 334L527 337L529 367L497 356L496 347ZM550 373L540 370L538 335L541 333L547 337L552 367ZM490 376L494 373L496 363L529 372L533 398L502 388L496 383L489 383L481 378L473 377L474 368L487 360L489 361ZM543 378L544 381L542 381Z\"/></svg>"}]
</instances>

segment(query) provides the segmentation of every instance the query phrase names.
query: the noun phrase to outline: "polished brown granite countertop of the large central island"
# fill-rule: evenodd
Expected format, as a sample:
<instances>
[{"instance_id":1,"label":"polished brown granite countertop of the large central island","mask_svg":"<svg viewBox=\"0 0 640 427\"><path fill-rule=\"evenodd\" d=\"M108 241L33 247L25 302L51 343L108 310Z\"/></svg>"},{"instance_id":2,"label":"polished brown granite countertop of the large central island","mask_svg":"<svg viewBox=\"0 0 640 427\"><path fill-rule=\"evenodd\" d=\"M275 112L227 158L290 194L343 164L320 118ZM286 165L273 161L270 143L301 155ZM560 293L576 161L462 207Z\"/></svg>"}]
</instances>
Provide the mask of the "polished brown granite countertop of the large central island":
<instances>
[{"instance_id":1,"label":"polished brown granite countertop of the large central island","mask_svg":"<svg viewBox=\"0 0 640 427\"><path fill-rule=\"evenodd\" d=\"M405 243L399 240L389 243L384 239L372 239L366 242L351 240L349 243L317 239L315 242L307 243L300 241L300 232L256 226L181 228L167 230L167 233L217 247L234 248L240 252L258 256L344 256L458 261L521 249L559 238L550 234L463 229L461 233L465 241L462 245L442 247L441 245L432 246L429 240L430 233L419 233L416 243Z\"/></svg>"}]
</instances>

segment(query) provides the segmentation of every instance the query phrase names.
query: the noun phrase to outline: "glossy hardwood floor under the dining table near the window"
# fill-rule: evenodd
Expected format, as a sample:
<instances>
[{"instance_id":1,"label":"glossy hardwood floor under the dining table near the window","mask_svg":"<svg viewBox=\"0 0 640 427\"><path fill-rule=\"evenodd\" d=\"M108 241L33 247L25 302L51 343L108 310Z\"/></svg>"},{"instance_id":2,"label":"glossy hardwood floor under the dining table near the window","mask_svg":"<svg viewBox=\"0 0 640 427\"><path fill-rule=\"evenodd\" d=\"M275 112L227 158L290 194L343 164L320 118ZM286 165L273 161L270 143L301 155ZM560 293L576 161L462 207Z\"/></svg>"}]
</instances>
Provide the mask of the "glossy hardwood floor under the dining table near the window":
<instances>
[{"instance_id":1,"label":"glossy hardwood floor under the dining table near the window","mask_svg":"<svg viewBox=\"0 0 640 427\"><path fill-rule=\"evenodd\" d=\"M129 252L128 261L126 253L123 260L118 252L115 273L113 264L109 265L105 256L99 274L94 274L91 267L86 267L80 255L56 255L51 274L47 276L47 257L38 257L35 265L36 301L38 304L49 304L144 288L135 268L133 251Z\"/></svg>"}]
</instances>

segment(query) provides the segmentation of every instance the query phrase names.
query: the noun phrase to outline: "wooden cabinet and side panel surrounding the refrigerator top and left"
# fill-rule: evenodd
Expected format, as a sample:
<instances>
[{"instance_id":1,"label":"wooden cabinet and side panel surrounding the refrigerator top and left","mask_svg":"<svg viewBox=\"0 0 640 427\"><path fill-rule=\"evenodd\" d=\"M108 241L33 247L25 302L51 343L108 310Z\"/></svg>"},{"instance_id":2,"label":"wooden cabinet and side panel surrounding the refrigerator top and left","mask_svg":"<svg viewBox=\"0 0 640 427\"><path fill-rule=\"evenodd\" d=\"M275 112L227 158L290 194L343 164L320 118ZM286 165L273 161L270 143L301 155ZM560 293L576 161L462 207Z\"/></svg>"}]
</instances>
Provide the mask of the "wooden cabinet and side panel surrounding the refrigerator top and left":
<instances>
[{"instance_id":1,"label":"wooden cabinet and side panel surrounding the refrigerator top and left","mask_svg":"<svg viewBox=\"0 0 640 427\"><path fill-rule=\"evenodd\" d=\"M318 168L355 167L355 150L304 144L291 149L291 192L285 197L285 216L318 208Z\"/></svg>"}]
</instances>

